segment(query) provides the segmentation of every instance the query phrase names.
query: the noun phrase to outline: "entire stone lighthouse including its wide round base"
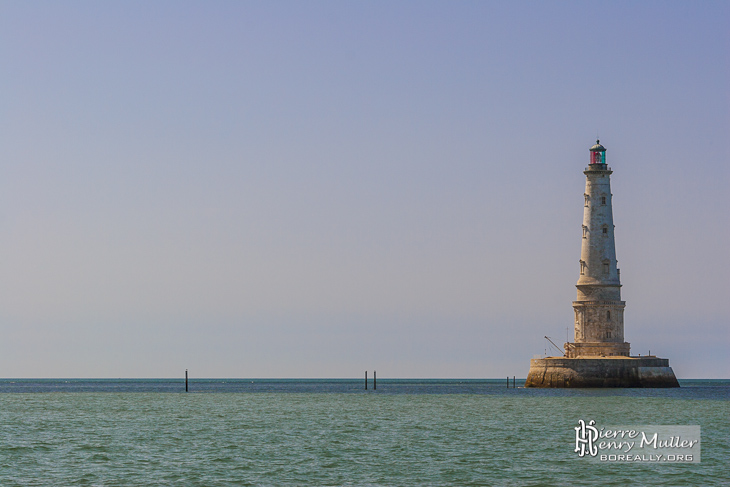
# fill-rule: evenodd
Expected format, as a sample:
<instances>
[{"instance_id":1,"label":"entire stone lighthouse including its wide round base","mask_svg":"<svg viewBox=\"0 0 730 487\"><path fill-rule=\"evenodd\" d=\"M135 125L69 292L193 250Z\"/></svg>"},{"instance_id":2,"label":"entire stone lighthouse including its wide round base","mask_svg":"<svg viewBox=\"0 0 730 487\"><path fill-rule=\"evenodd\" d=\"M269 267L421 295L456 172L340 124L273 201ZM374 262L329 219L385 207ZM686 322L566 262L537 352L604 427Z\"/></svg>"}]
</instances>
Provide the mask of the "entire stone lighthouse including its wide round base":
<instances>
[{"instance_id":1,"label":"entire stone lighthouse including its wide round base","mask_svg":"<svg viewBox=\"0 0 730 487\"><path fill-rule=\"evenodd\" d=\"M573 301L575 341L564 356L530 361L525 387L679 387L669 360L632 357L624 341L624 308L616 260L611 168L597 140L583 172L586 190L578 296Z\"/></svg>"}]
</instances>

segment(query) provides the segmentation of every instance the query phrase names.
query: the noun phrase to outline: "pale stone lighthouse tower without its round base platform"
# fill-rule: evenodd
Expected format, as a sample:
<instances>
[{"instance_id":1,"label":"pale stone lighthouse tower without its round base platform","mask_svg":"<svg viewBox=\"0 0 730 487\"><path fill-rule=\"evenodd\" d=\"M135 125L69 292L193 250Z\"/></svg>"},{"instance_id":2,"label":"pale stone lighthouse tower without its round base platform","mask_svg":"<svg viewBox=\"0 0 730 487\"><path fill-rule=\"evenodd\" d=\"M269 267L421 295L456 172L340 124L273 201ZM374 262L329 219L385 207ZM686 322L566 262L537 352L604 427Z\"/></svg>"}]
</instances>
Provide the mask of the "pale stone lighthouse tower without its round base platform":
<instances>
[{"instance_id":1,"label":"pale stone lighthouse tower without its round base platform","mask_svg":"<svg viewBox=\"0 0 730 487\"><path fill-rule=\"evenodd\" d=\"M624 342L624 307L616 260L611 207L611 168L606 148L597 140L583 172L583 243L580 252L578 296L575 310L575 343L566 343L566 356L629 356Z\"/></svg>"}]
</instances>

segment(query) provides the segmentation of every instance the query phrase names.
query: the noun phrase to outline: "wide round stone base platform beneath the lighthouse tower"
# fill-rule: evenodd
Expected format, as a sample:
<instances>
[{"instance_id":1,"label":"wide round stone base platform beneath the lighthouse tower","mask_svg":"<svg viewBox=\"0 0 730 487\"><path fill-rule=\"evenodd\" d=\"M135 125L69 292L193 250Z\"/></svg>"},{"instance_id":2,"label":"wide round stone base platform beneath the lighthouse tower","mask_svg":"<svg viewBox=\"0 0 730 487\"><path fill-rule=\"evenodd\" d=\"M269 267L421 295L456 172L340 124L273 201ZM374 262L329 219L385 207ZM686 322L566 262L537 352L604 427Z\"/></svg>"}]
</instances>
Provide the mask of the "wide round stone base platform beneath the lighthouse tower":
<instances>
[{"instance_id":1,"label":"wide round stone base platform beneath the lighthouse tower","mask_svg":"<svg viewBox=\"0 0 730 487\"><path fill-rule=\"evenodd\" d=\"M679 387L669 359L546 357L530 360L525 387Z\"/></svg>"}]
</instances>

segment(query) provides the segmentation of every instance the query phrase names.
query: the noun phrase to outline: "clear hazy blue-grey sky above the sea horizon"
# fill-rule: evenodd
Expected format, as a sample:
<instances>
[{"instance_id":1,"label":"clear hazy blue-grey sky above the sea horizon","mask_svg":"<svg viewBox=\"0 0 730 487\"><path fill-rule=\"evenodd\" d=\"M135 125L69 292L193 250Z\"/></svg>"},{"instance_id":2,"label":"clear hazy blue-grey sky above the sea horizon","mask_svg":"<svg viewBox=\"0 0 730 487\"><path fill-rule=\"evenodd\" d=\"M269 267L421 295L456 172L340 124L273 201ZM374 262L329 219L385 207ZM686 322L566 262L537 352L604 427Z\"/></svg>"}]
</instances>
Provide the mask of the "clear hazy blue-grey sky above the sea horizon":
<instances>
[{"instance_id":1,"label":"clear hazy blue-grey sky above the sea horizon","mask_svg":"<svg viewBox=\"0 0 730 487\"><path fill-rule=\"evenodd\" d=\"M728 378L728 25L0 0L0 377L525 377L572 333L600 137L632 353Z\"/></svg>"}]
</instances>

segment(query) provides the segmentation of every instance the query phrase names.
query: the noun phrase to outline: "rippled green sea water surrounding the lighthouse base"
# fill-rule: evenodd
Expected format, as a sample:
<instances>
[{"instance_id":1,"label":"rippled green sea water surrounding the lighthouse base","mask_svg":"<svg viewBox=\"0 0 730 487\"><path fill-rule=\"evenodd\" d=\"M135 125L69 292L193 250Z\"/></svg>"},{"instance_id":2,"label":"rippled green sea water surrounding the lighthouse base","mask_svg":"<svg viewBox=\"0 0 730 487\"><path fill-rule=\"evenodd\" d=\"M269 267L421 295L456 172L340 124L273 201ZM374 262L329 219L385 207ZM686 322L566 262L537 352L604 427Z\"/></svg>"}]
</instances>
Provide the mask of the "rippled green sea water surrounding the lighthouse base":
<instances>
[{"instance_id":1,"label":"rippled green sea water surrounding the lighthouse base","mask_svg":"<svg viewBox=\"0 0 730 487\"><path fill-rule=\"evenodd\" d=\"M2 379L0 485L730 485L730 381L680 382ZM580 419L700 425L701 463L580 458Z\"/></svg>"}]
</instances>

